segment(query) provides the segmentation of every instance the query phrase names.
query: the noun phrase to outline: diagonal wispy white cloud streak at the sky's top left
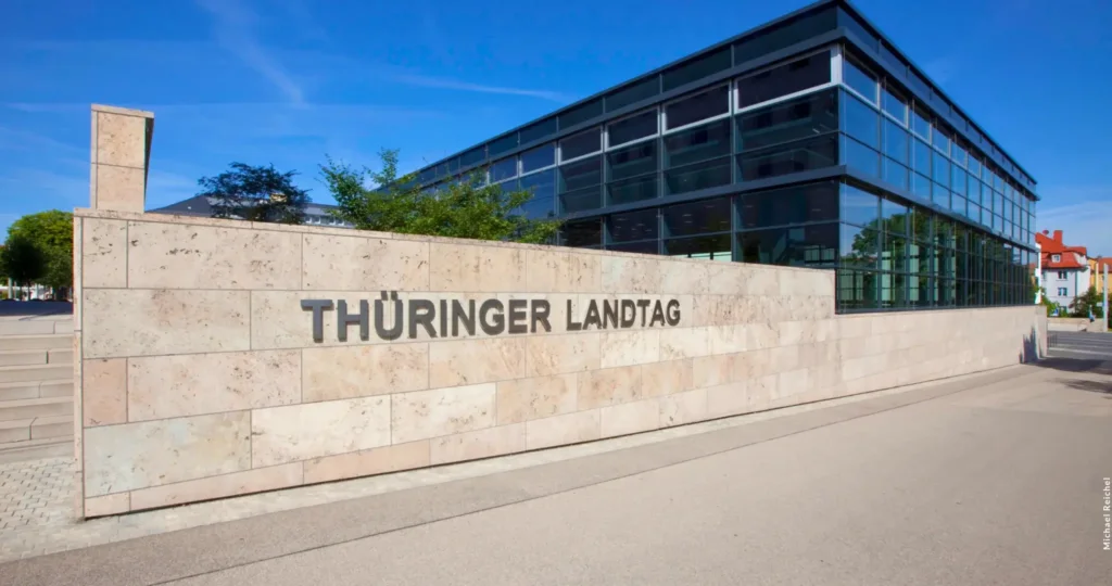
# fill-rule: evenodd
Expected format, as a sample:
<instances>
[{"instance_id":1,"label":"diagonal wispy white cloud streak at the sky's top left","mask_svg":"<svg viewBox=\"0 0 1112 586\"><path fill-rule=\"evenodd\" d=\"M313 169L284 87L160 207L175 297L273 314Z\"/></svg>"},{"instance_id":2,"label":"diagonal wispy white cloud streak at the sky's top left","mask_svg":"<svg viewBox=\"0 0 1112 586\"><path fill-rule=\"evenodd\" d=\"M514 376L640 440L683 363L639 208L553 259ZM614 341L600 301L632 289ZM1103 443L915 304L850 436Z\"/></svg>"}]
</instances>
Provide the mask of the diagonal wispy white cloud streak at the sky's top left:
<instances>
[{"instance_id":1,"label":"diagonal wispy white cloud streak at the sky's top left","mask_svg":"<svg viewBox=\"0 0 1112 586\"><path fill-rule=\"evenodd\" d=\"M256 38L258 17L249 8L235 0L196 1L212 17L212 33L225 49L270 81L290 102L305 103L301 87Z\"/></svg>"}]
</instances>

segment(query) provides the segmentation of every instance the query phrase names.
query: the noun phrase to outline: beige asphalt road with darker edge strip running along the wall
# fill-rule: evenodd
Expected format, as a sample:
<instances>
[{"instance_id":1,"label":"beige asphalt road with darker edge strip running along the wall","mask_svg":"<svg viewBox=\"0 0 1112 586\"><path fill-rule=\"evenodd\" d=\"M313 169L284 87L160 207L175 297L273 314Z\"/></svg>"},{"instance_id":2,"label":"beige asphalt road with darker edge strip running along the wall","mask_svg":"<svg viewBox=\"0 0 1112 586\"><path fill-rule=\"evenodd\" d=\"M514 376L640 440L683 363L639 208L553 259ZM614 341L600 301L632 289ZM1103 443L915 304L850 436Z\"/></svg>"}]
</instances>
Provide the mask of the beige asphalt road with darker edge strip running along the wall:
<instances>
[{"instance_id":1,"label":"beige asphalt road with darker edge strip running along the wall","mask_svg":"<svg viewBox=\"0 0 1112 586\"><path fill-rule=\"evenodd\" d=\"M0 583L1112 584L1112 354L1083 356L42 556Z\"/></svg>"}]
</instances>

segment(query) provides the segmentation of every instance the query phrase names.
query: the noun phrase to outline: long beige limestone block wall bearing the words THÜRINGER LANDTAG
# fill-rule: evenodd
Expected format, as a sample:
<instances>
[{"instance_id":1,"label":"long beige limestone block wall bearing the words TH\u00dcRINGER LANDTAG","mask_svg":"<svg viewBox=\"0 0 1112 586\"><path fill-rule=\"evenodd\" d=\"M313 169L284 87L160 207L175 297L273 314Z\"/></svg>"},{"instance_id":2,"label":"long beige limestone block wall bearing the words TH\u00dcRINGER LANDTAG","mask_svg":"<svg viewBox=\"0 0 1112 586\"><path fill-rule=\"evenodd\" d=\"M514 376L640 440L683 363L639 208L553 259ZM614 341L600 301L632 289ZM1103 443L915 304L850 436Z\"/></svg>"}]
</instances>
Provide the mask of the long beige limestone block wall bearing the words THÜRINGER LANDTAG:
<instances>
[{"instance_id":1,"label":"long beige limestone block wall bearing the words TH\u00dcRINGER LANDTAG","mask_svg":"<svg viewBox=\"0 0 1112 586\"><path fill-rule=\"evenodd\" d=\"M87 517L1004 367L1045 330L1034 307L838 317L830 271L126 211L75 230Z\"/></svg>"}]
</instances>

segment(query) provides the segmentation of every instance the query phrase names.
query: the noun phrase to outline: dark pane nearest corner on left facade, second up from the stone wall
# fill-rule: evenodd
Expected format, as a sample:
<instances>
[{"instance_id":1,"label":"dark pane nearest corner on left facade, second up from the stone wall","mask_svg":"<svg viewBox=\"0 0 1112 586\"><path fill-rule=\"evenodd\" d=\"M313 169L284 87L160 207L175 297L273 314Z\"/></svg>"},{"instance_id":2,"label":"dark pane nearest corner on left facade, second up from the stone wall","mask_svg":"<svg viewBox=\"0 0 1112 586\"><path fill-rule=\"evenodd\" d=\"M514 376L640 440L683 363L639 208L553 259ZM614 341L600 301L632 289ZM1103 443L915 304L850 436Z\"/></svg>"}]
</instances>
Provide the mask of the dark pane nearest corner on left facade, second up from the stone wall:
<instances>
[{"instance_id":1,"label":"dark pane nearest corner on left facade, second up from the stone wall","mask_svg":"<svg viewBox=\"0 0 1112 586\"><path fill-rule=\"evenodd\" d=\"M743 229L837 219L838 188L823 182L743 193L737 211Z\"/></svg>"}]
</instances>

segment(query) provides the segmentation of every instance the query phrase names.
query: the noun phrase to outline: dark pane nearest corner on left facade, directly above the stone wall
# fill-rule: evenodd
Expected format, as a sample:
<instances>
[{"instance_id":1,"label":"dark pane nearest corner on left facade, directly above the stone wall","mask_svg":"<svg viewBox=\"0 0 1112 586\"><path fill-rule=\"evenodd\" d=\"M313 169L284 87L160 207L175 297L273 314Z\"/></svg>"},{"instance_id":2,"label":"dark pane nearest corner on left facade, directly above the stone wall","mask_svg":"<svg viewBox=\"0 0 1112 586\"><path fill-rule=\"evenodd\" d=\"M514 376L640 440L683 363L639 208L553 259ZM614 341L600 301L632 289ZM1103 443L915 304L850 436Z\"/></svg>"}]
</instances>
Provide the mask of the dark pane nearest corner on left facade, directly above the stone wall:
<instances>
[{"instance_id":1,"label":"dark pane nearest corner on left facade, directly above the stone wall","mask_svg":"<svg viewBox=\"0 0 1112 586\"><path fill-rule=\"evenodd\" d=\"M837 264L837 224L752 230L737 240L743 262L810 268Z\"/></svg>"}]
</instances>

